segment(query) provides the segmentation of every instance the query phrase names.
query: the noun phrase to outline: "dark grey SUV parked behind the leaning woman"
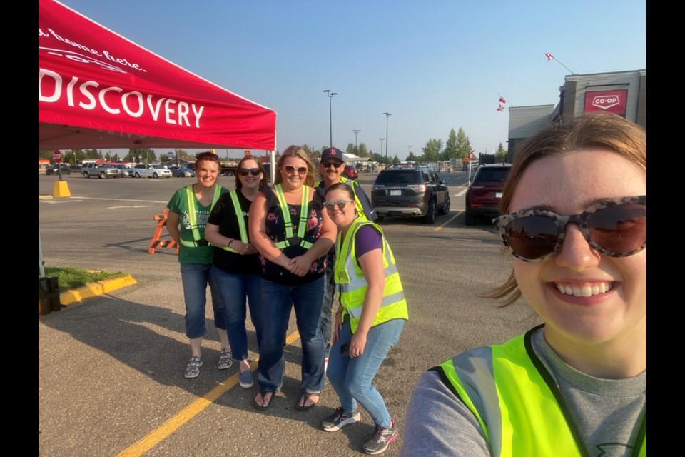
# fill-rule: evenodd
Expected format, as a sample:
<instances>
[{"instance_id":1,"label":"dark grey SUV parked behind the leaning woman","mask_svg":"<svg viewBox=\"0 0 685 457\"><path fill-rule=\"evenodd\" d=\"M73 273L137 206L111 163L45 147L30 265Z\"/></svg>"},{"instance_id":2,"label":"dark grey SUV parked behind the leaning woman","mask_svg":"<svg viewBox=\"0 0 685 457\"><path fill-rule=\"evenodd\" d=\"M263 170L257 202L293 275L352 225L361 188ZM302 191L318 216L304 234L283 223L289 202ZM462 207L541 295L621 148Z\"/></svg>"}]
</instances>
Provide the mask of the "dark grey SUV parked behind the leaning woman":
<instances>
[{"instance_id":1,"label":"dark grey SUV parked behind the leaning woman","mask_svg":"<svg viewBox=\"0 0 685 457\"><path fill-rule=\"evenodd\" d=\"M435 224L438 214L450 212L446 183L425 167L382 170L371 191L377 221L385 216L422 217L426 224Z\"/></svg>"}]
</instances>

